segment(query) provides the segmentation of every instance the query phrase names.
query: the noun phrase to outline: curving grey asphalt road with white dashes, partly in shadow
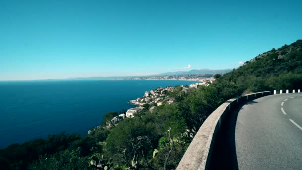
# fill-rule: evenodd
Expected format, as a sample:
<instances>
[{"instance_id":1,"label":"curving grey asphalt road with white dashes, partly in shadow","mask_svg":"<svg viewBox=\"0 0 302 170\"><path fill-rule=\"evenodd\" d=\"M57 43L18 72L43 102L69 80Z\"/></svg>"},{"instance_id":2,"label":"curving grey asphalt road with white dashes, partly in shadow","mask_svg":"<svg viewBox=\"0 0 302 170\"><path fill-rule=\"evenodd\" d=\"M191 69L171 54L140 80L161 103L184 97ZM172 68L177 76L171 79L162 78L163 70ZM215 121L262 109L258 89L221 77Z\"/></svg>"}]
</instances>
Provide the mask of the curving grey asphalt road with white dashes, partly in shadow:
<instances>
[{"instance_id":1,"label":"curving grey asphalt road with white dashes, partly in shadow","mask_svg":"<svg viewBox=\"0 0 302 170\"><path fill-rule=\"evenodd\" d=\"M210 169L302 170L302 93L258 98L224 122Z\"/></svg>"}]
</instances>

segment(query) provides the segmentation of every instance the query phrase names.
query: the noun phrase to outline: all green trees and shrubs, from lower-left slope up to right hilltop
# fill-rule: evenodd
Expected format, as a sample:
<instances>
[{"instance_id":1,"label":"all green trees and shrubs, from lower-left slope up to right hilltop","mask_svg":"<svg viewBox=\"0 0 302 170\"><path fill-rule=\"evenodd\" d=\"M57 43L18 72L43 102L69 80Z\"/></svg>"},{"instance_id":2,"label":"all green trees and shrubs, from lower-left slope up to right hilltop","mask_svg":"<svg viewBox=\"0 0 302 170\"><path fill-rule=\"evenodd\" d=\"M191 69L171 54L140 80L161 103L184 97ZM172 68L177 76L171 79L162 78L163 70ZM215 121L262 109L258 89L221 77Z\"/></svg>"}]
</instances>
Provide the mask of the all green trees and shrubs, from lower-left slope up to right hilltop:
<instances>
[{"instance_id":1,"label":"all green trees and shrubs, from lower-left slope up to right hilltop","mask_svg":"<svg viewBox=\"0 0 302 170\"><path fill-rule=\"evenodd\" d=\"M0 150L1 168L175 169L199 127L226 100L242 93L302 85L302 41L272 49L215 79L208 87L168 91L174 103L164 103L152 113L145 109L118 126L100 127L88 136L60 134L13 144ZM117 115L107 113L104 123Z\"/></svg>"}]
</instances>

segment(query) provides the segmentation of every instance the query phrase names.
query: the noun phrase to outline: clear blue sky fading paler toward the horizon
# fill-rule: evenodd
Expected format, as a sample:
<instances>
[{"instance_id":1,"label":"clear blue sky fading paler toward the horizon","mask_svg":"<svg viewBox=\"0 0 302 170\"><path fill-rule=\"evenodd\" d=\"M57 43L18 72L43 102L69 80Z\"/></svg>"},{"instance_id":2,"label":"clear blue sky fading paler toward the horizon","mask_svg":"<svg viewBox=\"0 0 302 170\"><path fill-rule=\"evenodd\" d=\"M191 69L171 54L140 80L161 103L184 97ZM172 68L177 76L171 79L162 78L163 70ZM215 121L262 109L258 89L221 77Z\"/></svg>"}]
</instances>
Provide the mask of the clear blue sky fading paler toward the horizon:
<instances>
[{"instance_id":1,"label":"clear blue sky fading paler toward the horizon","mask_svg":"<svg viewBox=\"0 0 302 170\"><path fill-rule=\"evenodd\" d=\"M236 68L302 39L301 0L1 0L0 80Z\"/></svg>"}]
</instances>

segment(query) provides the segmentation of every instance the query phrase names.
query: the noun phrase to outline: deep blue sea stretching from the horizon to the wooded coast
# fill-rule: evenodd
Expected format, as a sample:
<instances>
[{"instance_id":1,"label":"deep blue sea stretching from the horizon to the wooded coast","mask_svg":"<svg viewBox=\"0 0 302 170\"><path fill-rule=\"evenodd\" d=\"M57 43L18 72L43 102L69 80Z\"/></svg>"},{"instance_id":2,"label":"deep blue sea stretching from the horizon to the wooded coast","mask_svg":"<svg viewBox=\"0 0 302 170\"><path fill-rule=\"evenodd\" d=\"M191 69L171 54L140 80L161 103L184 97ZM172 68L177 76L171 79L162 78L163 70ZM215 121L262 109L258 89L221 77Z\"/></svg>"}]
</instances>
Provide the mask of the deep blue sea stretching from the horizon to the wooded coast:
<instances>
[{"instance_id":1,"label":"deep blue sea stretching from the horizon to the wooded coast","mask_svg":"<svg viewBox=\"0 0 302 170\"><path fill-rule=\"evenodd\" d=\"M47 80L0 82L0 148L60 132L87 135L108 111L179 80Z\"/></svg>"}]
</instances>

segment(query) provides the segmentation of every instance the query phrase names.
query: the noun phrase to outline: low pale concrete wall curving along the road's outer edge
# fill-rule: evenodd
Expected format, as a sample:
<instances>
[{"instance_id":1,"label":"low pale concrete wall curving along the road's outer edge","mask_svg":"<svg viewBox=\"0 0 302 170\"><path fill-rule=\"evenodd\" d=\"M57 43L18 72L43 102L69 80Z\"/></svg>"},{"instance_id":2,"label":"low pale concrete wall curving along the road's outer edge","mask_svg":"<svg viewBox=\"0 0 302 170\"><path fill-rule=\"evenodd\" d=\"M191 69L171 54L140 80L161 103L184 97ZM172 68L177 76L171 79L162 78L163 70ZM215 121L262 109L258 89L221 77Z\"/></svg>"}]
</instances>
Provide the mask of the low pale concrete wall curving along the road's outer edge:
<instances>
[{"instance_id":1,"label":"low pale concrete wall curving along the road's outer edge","mask_svg":"<svg viewBox=\"0 0 302 170\"><path fill-rule=\"evenodd\" d=\"M199 128L176 170L207 170L211 160L215 138L229 110L244 101L270 94L270 91L246 94L229 99L220 105Z\"/></svg>"}]
</instances>

